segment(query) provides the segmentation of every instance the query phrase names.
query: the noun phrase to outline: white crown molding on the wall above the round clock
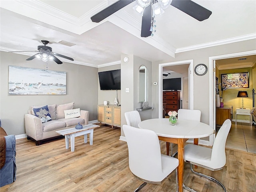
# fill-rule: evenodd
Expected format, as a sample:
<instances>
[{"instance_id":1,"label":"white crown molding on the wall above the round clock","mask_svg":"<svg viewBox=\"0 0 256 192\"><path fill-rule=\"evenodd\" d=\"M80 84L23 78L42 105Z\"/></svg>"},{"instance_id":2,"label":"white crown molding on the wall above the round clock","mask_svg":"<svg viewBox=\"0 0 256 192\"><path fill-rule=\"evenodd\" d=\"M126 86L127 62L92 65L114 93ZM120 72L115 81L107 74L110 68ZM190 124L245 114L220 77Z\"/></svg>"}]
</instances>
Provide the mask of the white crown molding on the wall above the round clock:
<instances>
[{"instance_id":1,"label":"white crown molding on the wall above the round clock","mask_svg":"<svg viewBox=\"0 0 256 192\"><path fill-rule=\"evenodd\" d=\"M229 43L234 43L234 42L239 42L239 41L245 41L245 40L250 40L250 39L255 39L255 38L256 38L256 33L252 33L252 34L247 34L247 35L238 36L238 37L234 37L234 38L228 38L228 39L224 39L224 40L178 48L178 49L176 49L175 53L186 52L186 51L202 49L202 48L208 48L208 47L224 45L224 44L229 44Z\"/></svg>"}]
</instances>

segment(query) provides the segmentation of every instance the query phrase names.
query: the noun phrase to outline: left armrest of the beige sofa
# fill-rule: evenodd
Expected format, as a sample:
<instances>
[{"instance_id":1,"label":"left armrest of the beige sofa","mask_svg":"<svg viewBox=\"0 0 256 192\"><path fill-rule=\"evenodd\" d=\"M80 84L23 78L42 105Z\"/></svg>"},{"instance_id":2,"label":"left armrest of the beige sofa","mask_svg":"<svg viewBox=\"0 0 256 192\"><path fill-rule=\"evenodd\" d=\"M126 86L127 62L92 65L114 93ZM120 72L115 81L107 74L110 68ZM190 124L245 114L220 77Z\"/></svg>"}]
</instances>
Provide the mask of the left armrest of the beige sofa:
<instances>
[{"instance_id":1,"label":"left armrest of the beige sofa","mask_svg":"<svg viewBox=\"0 0 256 192\"><path fill-rule=\"evenodd\" d=\"M36 141L43 139L42 122L37 116L25 114L25 128L27 136L32 137Z\"/></svg>"}]
</instances>

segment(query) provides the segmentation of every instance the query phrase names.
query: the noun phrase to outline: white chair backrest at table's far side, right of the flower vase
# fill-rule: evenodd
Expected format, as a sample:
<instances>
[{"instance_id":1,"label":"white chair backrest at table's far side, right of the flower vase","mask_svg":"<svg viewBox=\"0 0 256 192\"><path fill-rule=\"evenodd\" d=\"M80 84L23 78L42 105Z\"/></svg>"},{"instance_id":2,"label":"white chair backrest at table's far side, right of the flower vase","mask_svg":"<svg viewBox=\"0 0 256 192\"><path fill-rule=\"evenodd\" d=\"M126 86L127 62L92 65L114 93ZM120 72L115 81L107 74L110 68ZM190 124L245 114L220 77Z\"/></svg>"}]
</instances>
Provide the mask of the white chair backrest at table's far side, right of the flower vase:
<instances>
[{"instance_id":1,"label":"white chair backrest at table's far side, right of the flower vase","mask_svg":"<svg viewBox=\"0 0 256 192\"><path fill-rule=\"evenodd\" d=\"M191 109L179 109L178 110L178 119L180 120L201 120L201 111L200 110L191 110Z\"/></svg>"}]
</instances>

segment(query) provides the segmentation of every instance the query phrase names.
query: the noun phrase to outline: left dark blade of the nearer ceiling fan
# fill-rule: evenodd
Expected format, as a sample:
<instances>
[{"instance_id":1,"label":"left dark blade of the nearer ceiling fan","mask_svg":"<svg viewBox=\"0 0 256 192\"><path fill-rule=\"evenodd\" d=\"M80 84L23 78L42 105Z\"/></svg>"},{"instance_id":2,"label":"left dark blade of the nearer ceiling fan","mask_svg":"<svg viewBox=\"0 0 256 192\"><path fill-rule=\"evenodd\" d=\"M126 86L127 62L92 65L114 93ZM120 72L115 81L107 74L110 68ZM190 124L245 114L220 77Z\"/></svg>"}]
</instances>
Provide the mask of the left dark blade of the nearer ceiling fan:
<instances>
[{"instance_id":1,"label":"left dark blade of the nearer ceiling fan","mask_svg":"<svg viewBox=\"0 0 256 192\"><path fill-rule=\"evenodd\" d=\"M117 12L118 10L122 9L126 5L134 2L135 0L118 0L117 2L114 2L104 10L98 12L94 16L91 17L92 22L101 22L108 16L112 15L113 13Z\"/></svg>"}]
</instances>

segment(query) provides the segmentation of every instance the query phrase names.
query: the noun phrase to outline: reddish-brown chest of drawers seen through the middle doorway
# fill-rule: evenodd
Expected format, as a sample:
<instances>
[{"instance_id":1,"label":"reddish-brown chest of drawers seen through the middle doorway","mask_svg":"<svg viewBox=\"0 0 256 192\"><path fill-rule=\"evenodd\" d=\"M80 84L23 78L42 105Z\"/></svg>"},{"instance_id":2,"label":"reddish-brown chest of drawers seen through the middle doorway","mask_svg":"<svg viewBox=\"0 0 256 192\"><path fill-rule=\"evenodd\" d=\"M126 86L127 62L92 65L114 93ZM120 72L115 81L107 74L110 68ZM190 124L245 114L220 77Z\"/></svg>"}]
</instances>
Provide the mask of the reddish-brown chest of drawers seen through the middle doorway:
<instances>
[{"instance_id":1,"label":"reddish-brown chest of drawers seen through the middle doorway","mask_svg":"<svg viewBox=\"0 0 256 192\"><path fill-rule=\"evenodd\" d=\"M180 91L163 91L163 104L165 112L176 111L180 109Z\"/></svg>"}]
</instances>

